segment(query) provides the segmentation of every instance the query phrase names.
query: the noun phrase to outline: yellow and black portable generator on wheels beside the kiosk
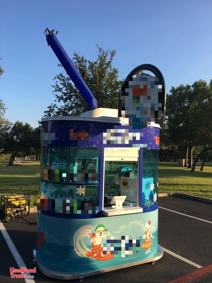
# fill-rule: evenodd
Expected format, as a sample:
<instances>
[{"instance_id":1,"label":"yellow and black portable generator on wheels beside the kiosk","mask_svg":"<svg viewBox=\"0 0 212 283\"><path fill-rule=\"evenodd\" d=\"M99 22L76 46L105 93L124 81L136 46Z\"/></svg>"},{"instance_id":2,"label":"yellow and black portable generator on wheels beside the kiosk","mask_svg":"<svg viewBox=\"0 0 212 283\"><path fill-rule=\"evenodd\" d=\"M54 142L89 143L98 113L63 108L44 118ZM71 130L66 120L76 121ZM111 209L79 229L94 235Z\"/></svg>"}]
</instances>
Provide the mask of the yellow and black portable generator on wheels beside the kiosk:
<instances>
[{"instance_id":1,"label":"yellow and black portable generator on wheels beside the kiosk","mask_svg":"<svg viewBox=\"0 0 212 283\"><path fill-rule=\"evenodd\" d=\"M0 213L6 222L15 217L29 215L30 196L28 194L5 197L1 195Z\"/></svg>"}]
</instances>

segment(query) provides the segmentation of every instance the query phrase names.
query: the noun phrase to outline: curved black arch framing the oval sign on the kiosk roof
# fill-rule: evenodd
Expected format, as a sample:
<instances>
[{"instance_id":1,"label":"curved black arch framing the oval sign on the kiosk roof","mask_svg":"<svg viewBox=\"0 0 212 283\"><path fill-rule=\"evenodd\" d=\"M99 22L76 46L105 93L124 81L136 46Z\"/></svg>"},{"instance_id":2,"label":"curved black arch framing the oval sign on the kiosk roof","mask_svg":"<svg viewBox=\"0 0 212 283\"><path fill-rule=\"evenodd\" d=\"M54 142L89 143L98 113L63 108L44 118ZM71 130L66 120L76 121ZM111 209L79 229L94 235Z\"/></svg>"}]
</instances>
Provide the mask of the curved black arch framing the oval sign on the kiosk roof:
<instances>
[{"instance_id":1,"label":"curved black arch framing the oval sign on the kiosk roof","mask_svg":"<svg viewBox=\"0 0 212 283\"><path fill-rule=\"evenodd\" d=\"M142 64L139 65L138 67L136 67L135 69L133 69L129 75L127 76L127 78L125 79L125 81L127 81L130 77L132 77L133 75L138 74L141 71L150 71L152 72L156 78L158 78L158 80L160 81L160 83L162 84L162 106L163 106L163 121L162 121L162 130L163 130L163 123L164 123L164 113L165 113L165 104L166 104L166 85L165 85L165 80L164 77L162 75L162 73L160 72L160 70L155 67L154 65L151 64ZM122 88L125 86L125 82L122 85ZM120 105L120 98L121 98L121 93L122 93L122 88L120 91L120 96L119 96L119 106L118 106L118 117L121 117L121 105Z\"/></svg>"}]
</instances>

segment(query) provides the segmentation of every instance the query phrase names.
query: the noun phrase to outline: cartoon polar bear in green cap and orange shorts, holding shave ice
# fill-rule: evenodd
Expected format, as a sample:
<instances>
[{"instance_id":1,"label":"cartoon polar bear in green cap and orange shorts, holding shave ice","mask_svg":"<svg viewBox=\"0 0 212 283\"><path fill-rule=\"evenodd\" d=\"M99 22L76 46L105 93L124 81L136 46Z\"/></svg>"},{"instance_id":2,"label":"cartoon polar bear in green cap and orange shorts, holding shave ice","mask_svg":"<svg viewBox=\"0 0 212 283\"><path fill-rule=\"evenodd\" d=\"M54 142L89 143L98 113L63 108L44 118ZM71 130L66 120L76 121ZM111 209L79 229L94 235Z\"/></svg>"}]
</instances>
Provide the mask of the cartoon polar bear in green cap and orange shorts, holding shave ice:
<instances>
[{"instance_id":1,"label":"cartoon polar bear in green cap and orange shorts, holding shave ice","mask_svg":"<svg viewBox=\"0 0 212 283\"><path fill-rule=\"evenodd\" d=\"M104 256L103 254L103 247L102 247L102 239L106 236L106 231L108 229L105 229L105 225L103 224L99 224L96 226L96 236L92 236L92 234L94 233L91 233L91 240L90 242L92 243L92 254L93 256L92 257L95 257L97 256L98 253L101 254L101 256Z\"/></svg>"}]
</instances>

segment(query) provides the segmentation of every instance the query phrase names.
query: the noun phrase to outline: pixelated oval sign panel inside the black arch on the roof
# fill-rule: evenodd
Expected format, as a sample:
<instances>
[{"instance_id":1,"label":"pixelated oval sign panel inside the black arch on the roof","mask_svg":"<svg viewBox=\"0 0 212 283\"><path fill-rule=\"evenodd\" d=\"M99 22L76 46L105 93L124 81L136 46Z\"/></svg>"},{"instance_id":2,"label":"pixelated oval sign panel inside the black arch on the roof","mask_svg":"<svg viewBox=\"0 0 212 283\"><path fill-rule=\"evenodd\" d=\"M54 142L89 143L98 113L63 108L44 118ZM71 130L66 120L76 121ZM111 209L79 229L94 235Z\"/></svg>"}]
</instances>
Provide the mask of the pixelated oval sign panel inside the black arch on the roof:
<instances>
[{"instance_id":1,"label":"pixelated oval sign panel inside the black arch on the roof","mask_svg":"<svg viewBox=\"0 0 212 283\"><path fill-rule=\"evenodd\" d=\"M162 115L162 84L146 74L131 76L121 89L121 114L133 129L158 121Z\"/></svg>"}]
</instances>

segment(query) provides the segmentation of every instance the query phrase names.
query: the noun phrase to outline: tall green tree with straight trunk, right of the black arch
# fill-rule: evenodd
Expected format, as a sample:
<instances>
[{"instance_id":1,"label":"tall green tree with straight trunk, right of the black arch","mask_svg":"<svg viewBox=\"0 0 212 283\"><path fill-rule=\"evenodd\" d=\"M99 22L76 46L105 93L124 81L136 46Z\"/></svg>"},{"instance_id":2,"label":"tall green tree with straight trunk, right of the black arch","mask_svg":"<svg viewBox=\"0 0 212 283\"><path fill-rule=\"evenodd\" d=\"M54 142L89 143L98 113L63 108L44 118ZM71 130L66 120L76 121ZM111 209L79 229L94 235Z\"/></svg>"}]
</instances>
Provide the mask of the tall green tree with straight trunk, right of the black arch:
<instances>
[{"instance_id":1,"label":"tall green tree with straight trunk, right of the black arch","mask_svg":"<svg viewBox=\"0 0 212 283\"><path fill-rule=\"evenodd\" d=\"M192 85L172 87L167 96L167 126L170 136L188 143L188 168L192 168L193 148L198 142L198 109L208 98L208 84L205 80Z\"/></svg>"}]
</instances>

